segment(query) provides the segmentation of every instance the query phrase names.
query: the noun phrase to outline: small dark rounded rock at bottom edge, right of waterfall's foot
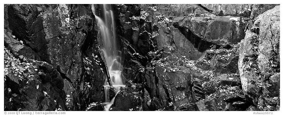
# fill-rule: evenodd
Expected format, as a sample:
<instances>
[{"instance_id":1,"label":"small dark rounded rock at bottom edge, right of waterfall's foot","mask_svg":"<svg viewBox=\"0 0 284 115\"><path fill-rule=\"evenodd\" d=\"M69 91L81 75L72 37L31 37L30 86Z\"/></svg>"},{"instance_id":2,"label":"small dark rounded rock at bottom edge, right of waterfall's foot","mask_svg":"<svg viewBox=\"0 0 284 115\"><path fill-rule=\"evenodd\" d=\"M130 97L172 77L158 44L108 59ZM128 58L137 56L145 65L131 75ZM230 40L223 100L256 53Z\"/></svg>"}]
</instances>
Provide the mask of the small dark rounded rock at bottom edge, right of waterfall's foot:
<instances>
[{"instance_id":1,"label":"small dark rounded rock at bottom edge, right of waterfall's foot","mask_svg":"<svg viewBox=\"0 0 284 115\"><path fill-rule=\"evenodd\" d=\"M141 105L141 97L127 92L120 91L115 99L113 105L110 106L110 111L138 111Z\"/></svg>"}]
</instances>

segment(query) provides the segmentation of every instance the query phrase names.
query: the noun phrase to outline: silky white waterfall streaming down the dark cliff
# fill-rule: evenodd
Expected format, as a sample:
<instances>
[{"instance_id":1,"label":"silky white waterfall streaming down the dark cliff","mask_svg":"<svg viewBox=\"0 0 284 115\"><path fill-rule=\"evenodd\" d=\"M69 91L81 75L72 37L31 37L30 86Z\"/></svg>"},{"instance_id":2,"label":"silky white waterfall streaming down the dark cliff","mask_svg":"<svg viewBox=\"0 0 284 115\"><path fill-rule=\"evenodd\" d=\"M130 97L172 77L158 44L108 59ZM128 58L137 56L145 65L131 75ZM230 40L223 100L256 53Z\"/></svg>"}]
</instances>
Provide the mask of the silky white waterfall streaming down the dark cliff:
<instances>
[{"instance_id":1,"label":"silky white waterfall streaming down the dark cliff","mask_svg":"<svg viewBox=\"0 0 284 115\"><path fill-rule=\"evenodd\" d=\"M95 8L92 5L92 10L95 15ZM110 5L103 5L104 10L104 20L95 15L95 18L98 23L99 32L98 38L102 43L102 52L104 53L104 57L106 59L106 65L108 67L110 80L112 82L112 86L115 88L116 94L120 91L121 87L125 87L123 80L121 78L121 52L117 50L117 39L115 33L115 23L114 23L114 15L111 10ZM111 87L107 82L107 78L105 78L105 110L108 111L109 107L113 104L114 98L109 99L109 88ZM115 94L115 95L116 95Z\"/></svg>"}]
</instances>

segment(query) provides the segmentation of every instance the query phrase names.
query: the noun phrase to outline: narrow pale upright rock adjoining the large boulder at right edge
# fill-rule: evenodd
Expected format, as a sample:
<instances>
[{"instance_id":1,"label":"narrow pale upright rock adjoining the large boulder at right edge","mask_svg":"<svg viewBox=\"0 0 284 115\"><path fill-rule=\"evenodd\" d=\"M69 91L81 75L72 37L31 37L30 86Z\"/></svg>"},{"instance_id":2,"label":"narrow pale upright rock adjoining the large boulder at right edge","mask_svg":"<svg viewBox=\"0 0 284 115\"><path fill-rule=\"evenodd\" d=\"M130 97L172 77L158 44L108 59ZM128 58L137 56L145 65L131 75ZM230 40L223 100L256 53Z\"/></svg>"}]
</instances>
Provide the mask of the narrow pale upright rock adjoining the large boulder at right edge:
<instances>
[{"instance_id":1,"label":"narrow pale upright rock adjoining the large boulder at right edge","mask_svg":"<svg viewBox=\"0 0 284 115\"><path fill-rule=\"evenodd\" d=\"M238 67L240 71L240 80L244 95L253 103L257 104L255 98L259 95L258 66L256 59L258 57L258 43L255 43L257 36L250 31L246 32L244 40L240 42Z\"/></svg>"}]
</instances>

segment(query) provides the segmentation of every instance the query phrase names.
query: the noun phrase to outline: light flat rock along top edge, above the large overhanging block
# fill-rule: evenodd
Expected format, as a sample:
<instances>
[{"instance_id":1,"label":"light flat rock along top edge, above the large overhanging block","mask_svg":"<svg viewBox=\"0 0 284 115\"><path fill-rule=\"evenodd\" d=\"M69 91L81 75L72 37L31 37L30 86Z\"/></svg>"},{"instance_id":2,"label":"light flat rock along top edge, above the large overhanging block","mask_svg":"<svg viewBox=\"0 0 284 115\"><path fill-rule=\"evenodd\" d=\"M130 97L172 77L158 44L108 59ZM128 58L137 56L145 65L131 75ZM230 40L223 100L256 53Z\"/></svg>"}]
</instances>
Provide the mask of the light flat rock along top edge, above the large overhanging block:
<instances>
[{"instance_id":1,"label":"light flat rock along top edge, above the large overhanging block","mask_svg":"<svg viewBox=\"0 0 284 115\"><path fill-rule=\"evenodd\" d=\"M209 12L219 16L242 16L251 15L251 4L201 4Z\"/></svg>"}]
</instances>

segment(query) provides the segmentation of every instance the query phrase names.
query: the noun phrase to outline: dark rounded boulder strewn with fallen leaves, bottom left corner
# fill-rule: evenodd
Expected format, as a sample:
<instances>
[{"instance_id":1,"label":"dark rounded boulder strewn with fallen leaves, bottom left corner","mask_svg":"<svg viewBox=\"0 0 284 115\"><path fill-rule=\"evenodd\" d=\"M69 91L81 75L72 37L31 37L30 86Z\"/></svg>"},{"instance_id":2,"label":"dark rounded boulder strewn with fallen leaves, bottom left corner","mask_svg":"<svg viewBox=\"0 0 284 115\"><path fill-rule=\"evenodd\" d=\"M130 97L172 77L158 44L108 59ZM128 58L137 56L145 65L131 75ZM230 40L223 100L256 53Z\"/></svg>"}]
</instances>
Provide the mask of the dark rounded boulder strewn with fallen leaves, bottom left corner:
<instances>
[{"instance_id":1,"label":"dark rounded boulder strewn with fallen leaves, bottom left corner","mask_svg":"<svg viewBox=\"0 0 284 115\"><path fill-rule=\"evenodd\" d=\"M54 66L40 61L20 62L4 48L4 106L9 111L67 110L63 78ZM16 105L16 106L15 106Z\"/></svg>"}]
</instances>

